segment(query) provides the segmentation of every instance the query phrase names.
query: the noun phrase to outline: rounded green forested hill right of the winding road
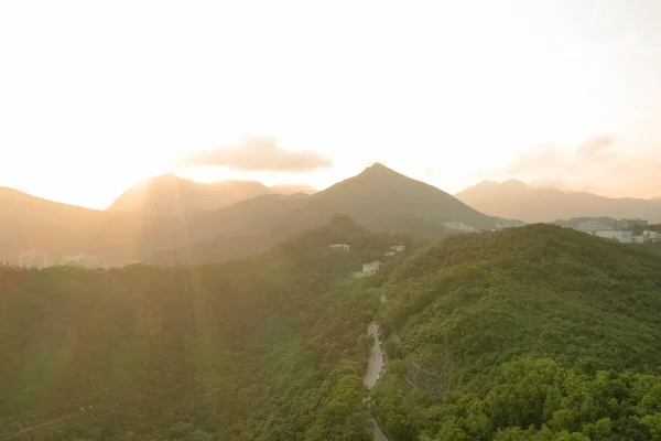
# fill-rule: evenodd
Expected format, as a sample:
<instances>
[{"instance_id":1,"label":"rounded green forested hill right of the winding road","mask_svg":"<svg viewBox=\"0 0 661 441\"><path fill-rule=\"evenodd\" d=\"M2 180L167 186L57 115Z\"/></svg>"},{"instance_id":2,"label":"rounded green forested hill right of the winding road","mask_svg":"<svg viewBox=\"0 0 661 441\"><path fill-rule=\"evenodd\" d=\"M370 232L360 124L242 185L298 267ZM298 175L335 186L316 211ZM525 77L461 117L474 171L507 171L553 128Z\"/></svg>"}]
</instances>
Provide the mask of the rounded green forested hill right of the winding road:
<instances>
[{"instance_id":1,"label":"rounded green forested hill right of the winding road","mask_svg":"<svg viewBox=\"0 0 661 441\"><path fill-rule=\"evenodd\" d=\"M399 440L660 439L661 258L551 225L456 236L388 299Z\"/></svg>"}]
</instances>

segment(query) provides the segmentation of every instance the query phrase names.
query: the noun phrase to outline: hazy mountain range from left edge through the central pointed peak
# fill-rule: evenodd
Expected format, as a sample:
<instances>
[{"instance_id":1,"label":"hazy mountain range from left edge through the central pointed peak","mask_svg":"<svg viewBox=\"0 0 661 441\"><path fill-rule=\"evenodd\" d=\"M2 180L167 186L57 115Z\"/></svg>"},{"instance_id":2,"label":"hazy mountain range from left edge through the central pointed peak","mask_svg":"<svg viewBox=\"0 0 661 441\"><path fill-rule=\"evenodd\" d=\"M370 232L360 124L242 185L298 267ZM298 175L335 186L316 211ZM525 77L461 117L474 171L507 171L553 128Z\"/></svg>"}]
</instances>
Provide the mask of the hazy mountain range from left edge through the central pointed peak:
<instances>
[{"instance_id":1,"label":"hazy mountain range from left edge through the central pointed peak","mask_svg":"<svg viewBox=\"0 0 661 441\"><path fill-rule=\"evenodd\" d=\"M254 182L199 184L175 175L124 192L107 211L0 191L0 260L41 249L102 255L111 262L212 261L263 251L346 214L372 230L433 236L455 222L492 229L505 220L381 164L311 195ZM238 202L237 202L238 201Z\"/></svg>"}]
</instances>

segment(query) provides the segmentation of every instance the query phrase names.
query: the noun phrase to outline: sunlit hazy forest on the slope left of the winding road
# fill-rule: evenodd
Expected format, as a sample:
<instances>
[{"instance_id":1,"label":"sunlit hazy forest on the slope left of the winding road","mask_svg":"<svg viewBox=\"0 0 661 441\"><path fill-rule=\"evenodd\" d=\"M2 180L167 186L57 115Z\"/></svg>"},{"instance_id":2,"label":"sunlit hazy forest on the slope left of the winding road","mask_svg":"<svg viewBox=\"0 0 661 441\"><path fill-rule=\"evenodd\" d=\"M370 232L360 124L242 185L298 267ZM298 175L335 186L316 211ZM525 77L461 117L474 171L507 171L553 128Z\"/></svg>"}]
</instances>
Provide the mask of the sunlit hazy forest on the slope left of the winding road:
<instances>
[{"instance_id":1,"label":"sunlit hazy forest on the slope left of the winding road","mask_svg":"<svg viewBox=\"0 0 661 441\"><path fill-rule=\"evenodd\" d=\"M0 438L366 439L382 278L349 272L392 240L338 216L226 263L0 268Z\"/></svg>"}]
</instances>

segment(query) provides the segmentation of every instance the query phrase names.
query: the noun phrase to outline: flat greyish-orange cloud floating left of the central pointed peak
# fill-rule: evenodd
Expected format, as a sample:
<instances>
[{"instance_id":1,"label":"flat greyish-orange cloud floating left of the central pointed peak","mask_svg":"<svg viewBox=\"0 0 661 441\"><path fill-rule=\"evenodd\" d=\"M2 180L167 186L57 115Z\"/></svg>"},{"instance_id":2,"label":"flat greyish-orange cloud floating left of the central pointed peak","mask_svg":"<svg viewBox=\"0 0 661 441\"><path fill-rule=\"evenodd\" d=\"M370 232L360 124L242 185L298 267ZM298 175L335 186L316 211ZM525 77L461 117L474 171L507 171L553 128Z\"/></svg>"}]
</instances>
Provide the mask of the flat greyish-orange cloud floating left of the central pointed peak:
<instances>
[{"instance_id":1,"label":"flat greyish-orange cloud floating left of the central pointed peak","mask_svg":"<svg viewBox=\"0 0 661 441\"><path fill-rule=\"evenodd\" d=\"M333 166L333 161L313 151L288 151L271 137L247 137L215 150L197 151L183 158L183 166L212 165L248 171L304 173Z\"/></svg>"}]
</instances>

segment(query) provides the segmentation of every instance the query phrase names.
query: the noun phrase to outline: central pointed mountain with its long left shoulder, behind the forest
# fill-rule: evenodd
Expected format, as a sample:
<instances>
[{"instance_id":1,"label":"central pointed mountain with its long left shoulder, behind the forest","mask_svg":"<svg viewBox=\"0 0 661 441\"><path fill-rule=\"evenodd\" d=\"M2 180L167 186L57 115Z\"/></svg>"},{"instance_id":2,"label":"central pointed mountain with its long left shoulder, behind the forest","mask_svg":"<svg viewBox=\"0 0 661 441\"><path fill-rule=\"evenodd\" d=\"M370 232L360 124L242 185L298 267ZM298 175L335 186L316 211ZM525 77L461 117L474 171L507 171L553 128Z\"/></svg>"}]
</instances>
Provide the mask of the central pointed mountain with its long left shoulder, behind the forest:
<instances>
[{"instance_id":1,"label":"central pointed mountain with its long left shoulder, behind the forest","mask_svg":"<svg viewBox=\"0 0 661 441\"><path fill-rule=\"evenodd\" d=\"M313 195L260 196L191 223L186 241L161 247L150 261L173 263L225 259L266 250L288 236L346 214L372 232L431 237L448 233L444 223L492 229L501 222L454 196L376 163L360 174ZM240 237L241 239L237 239ZM261 244L261 247L260 247Z\"/></svg>"}]
</instances>

